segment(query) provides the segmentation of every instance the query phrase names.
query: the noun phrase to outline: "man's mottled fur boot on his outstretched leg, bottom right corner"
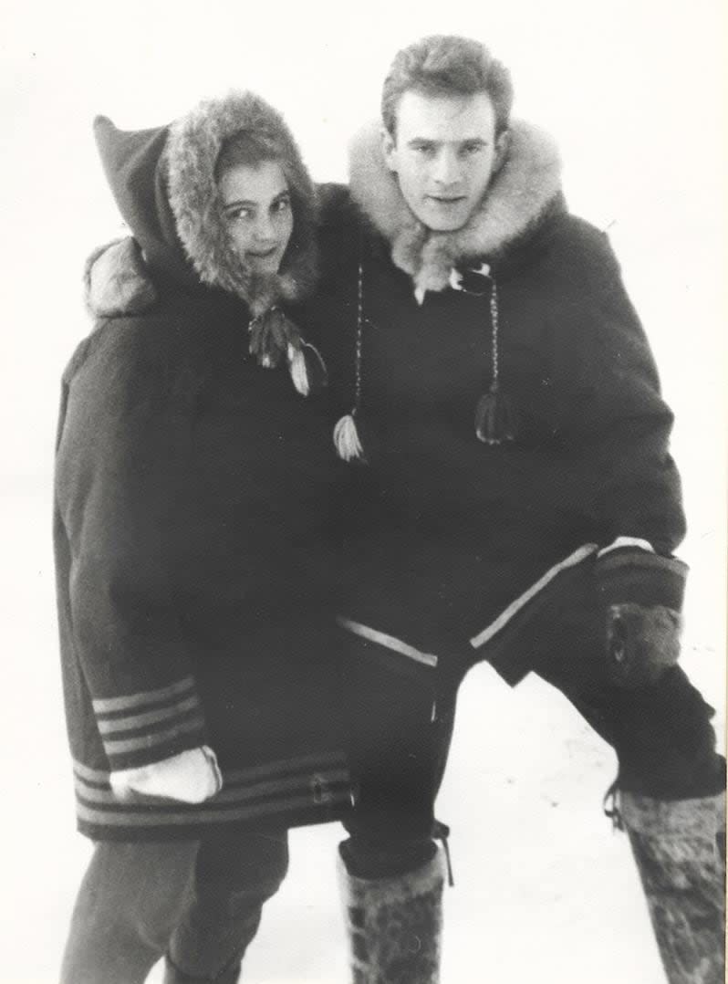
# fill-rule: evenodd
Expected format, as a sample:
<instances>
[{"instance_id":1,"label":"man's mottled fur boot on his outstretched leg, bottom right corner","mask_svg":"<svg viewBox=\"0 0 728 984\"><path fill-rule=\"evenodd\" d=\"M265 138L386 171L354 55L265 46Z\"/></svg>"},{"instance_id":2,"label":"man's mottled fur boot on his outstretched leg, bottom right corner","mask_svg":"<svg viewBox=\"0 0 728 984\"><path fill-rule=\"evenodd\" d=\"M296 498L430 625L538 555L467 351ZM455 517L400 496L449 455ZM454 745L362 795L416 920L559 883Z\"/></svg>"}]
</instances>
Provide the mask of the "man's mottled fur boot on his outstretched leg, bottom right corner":
<instances>
[{"instance_id":1,"label":"man's mottled fur boot on his outstretched leg, bottom right corner","mask_svg":"<svg viewBox=\"0 0 728 984\"><path fill-rule=\"evenodd\" d=\"M619 815L670 984L725 984L725 793L621 792Z\"/></svg>"}]
</instances>

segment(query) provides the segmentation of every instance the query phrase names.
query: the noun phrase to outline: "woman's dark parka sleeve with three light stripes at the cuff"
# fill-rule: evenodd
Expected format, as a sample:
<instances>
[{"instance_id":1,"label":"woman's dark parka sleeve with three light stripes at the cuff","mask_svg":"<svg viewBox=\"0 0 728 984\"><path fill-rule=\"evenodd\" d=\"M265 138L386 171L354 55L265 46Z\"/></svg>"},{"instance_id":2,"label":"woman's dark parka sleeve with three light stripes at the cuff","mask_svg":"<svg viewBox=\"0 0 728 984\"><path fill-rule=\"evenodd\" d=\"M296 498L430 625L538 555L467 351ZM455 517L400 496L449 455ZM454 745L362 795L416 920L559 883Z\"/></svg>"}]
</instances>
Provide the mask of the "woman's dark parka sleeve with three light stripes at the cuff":
<instances>
[{"instance_id":1,"label":"woman's dark parka sleeve with three light stripes at the cuff","mask_svg":"<svg viewBox=\"0 0 728 984\"><path fill-rule=\"evenodd\" d=\"M96 333L64 378L56 558L64 659L76 661L111 770L205 742L173 592L189 424L163 359Z\"/></svg>"}]
</instances>

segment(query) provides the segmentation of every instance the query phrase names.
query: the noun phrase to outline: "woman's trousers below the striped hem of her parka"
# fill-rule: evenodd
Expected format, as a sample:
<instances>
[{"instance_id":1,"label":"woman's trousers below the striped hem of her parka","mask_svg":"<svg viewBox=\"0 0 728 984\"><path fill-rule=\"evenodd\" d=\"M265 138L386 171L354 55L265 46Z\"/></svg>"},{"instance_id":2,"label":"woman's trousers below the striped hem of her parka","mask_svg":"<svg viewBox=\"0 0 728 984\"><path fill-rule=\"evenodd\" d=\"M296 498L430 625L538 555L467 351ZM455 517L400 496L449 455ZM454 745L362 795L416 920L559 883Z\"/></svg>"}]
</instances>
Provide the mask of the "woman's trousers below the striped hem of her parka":
<instances>
[{"instance_id":1,"label":"woman's trousers below the striped hem of her parka","mask_svg":"<svg viewBox=\"0 0 728 984\"><path fill-rule=\"evenodd\" d=\"M180 980L234 979L287 867L282 831L96 844L61 984L142 984L163 954Z\"/></svg>"}]
</instances>

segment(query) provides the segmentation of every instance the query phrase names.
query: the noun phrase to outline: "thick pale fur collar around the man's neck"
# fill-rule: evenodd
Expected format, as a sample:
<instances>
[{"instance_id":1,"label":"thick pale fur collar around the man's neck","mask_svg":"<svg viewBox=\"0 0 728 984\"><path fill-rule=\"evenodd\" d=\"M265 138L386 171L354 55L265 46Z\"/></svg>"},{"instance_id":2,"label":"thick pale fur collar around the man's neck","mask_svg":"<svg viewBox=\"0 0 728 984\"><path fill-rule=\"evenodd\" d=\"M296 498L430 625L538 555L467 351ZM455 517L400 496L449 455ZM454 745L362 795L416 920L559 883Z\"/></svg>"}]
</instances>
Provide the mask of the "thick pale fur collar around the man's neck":
<instances>
[{"instance_id":1,"label":"thick pale fur collar around the man's neck","mask_svg":"<svg viewBox=\"0 0 728 984\"><path fill-rule=\"evenodd\" d=\"M514 122L511 146L480 208L455 232L433 232L409 210L382 152L379 125L353 140L351 196L390 243L394 265L408 274L422 302L427 290L444 290L453 267L497 258L522 239L561 191L561 160L551 137Z\"/></svg>"}]
</instances>

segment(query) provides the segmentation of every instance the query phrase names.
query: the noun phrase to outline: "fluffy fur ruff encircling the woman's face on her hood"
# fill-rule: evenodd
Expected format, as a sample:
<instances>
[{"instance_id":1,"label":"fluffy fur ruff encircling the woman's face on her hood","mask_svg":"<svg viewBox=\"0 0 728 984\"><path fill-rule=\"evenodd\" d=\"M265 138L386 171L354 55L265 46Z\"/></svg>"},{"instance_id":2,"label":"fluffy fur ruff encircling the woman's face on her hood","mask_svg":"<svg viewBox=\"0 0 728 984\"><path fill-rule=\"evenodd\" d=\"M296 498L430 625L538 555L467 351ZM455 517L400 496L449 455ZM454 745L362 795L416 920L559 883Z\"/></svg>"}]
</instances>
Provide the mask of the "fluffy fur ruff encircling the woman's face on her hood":
<instances>
[{"instance_id":1,"label":"fluffy fur ruff encircling the woman's face on her hood","mask_svg":"<svg viewBox=\"0 0 728 984\"><path fill-rule=\"evenodd\" d=\"M214 167L222 144L240 130L272 134L285 148L295 225L281 269L257 275L230 245ZM297 301L317 277L316 191L282 116L252 92L230 92L201 103L173 123L165 148L169 204L185 253L204 283L242 297L259 315Z\"/></svg>"}]
</instances>

